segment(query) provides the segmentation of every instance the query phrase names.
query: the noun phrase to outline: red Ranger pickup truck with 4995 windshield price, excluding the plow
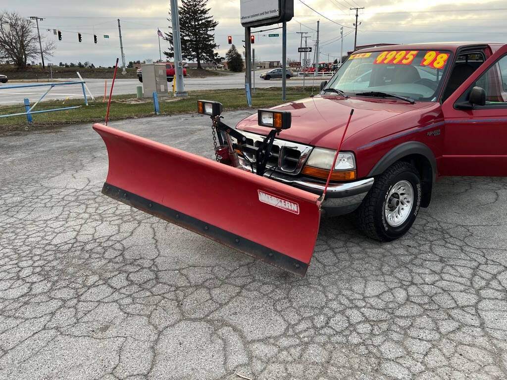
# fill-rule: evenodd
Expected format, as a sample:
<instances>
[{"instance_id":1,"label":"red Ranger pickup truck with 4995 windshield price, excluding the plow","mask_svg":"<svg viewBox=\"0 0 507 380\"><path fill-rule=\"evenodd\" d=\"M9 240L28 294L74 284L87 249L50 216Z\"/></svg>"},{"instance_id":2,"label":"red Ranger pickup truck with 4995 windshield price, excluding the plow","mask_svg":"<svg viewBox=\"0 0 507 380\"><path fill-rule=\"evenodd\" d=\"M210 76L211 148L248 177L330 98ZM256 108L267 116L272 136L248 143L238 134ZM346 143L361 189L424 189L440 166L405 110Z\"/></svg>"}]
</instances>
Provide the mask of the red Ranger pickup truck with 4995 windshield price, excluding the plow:
<instances>
[{"instance_id":1,"label":"red Ranger pickup truck with 4995 windshield price, excluding the plow","mask_svg":"<svg viewBox=\"0 0 507 380\"><path fill-rule=\"evenodd\" d=\"M507 45L431 43L354 52L320 94L282 104L292 127L274 140L266 176L322 194L357 214L371 238L404 235L442 176L507 176ZM237 127L248 144L269 132L258 115ZM253 157L242 157L244 168Z\"/></svg>"}]
</instances>

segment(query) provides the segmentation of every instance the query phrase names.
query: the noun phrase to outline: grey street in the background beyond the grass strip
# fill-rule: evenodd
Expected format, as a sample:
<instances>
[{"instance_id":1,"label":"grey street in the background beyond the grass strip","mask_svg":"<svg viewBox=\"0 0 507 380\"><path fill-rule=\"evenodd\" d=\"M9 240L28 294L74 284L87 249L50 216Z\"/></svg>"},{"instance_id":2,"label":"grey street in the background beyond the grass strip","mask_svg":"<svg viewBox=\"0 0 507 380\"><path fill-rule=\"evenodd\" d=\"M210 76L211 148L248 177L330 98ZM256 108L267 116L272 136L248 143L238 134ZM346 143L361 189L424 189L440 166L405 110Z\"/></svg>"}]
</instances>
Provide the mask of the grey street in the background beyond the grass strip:
<instances>
[{"instance_id":1,"label":"grey street in the background beyond the grass strip","mask_svg":"<svg viewBox=\"0 0 507 380\"><path fill-rule=\"evenodd\" d=\"M257 88L266 87L281 87L281 80L264 81L259 78L259 75L266 70L258 70L255 72L256 81L255 85ZM114 95L123 94L135 94L136 87L141 85L137 79L121 79L121 74L115 81L115 87L113 89ZM312 82L315 86L319 86L322 78L308 77L305 82L307 86L310 86ZM329 77L327 78L329 79ZM69 81L75 81L76 79L69 79ZM105 80L104 79L86 79L86 84L90 89L93 96L99 99L104 97ZM109 96L111 91L111 80L107 80L107 91L106 95ZM34 82L36 83L36 82ZM23 103L24 98L28 98L30 103L37 101L39 97L47 91L47 87L32 87L32 88L19 88L19 89L5 89L2 87L15 85L15 83L0 84L0 105L7 104L18 104ZM303 86L303 80L300 78L293 78L287 81L287 86ZM243 88L244 87L244 73L228 74L220 77L208 77L208 78L186 78L185 88L188 91L191 90L214 90L214 89L229 89L229 88ZM71 85L53 88L45 100L53 99L65 99L65 98L82 98L83 90L81 85Z\"/></svg>"}]
</instances>

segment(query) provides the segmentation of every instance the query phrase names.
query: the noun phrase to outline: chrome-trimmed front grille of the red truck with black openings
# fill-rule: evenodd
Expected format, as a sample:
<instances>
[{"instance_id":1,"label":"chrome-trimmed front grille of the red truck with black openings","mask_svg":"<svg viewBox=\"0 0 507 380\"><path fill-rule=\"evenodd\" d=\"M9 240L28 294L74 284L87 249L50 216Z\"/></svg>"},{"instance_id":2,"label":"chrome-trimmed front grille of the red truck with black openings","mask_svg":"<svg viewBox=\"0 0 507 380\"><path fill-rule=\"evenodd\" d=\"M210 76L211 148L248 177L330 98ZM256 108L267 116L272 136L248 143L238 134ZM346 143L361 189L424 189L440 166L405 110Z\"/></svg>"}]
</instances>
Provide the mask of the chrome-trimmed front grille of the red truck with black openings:
<instances>
[{"instance_id":1,"label":"chrome-trimmed front grille of the red truck with black openings","mask_svg":"<svg viewBox=\"0 0 507 380\"><path fill-rule=\"evenodd\" d=\"M246 137L246 143L259 147L264 140L265 136L257 135L255 133L241 131ZM273 142L273 149L271 156L268 160L267 166L269 168L276 167L277 171L297 175L303 168L306 159L312 150L311 146L275 139ZM255 157L251 154L246 154L246 158L255 163Z\"/></svg>"}]
</instances>

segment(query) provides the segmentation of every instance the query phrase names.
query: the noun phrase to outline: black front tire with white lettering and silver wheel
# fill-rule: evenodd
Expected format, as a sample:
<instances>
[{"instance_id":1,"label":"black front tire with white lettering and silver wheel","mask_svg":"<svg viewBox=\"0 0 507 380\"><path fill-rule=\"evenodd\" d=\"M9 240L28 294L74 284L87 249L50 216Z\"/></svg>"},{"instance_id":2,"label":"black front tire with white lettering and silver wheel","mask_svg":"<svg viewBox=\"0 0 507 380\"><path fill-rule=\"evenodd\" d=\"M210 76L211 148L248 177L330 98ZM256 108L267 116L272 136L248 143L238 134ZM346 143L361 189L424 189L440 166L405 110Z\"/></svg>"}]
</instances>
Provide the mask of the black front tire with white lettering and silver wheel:
<instances>
[{"instance_id":1,"label":"black front tire with white lettering and silver wheel","mask_svg":"<svg viewBox=\"0 0 507 380\"><path fill-rule=\"evenodd\" d=\"M407 162L396 162L375 179L357 209L359 227L372 239L392 241L410 230L422 199L421 177Z\"/></svg>"}]
</instances>

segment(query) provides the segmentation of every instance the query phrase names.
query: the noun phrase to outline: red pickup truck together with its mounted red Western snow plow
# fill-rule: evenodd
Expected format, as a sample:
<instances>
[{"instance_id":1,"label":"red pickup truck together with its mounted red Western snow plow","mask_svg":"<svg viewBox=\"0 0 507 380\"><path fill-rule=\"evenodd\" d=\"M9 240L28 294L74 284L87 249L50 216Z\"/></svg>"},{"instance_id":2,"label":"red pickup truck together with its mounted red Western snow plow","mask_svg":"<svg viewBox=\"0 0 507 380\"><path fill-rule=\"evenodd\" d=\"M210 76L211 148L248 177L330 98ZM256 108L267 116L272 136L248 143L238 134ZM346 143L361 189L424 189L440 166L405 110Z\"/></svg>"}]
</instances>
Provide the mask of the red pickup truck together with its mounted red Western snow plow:
<instances>
[{"instance_id":1,"label":"red pickup truck together with its mounted red Western snow plow","mask_svg":"<svg viewBox=\"0 0 507 380\"><path fill-rule=\"evenodd\" d=\"M109 156L102 192L301 276L322 215L355 212L367 236L390 241L440 177L507 176L498 43L360 50L318 95L259 109L236 129L222 104L197 108L211 117L218 162L96 124Z\"/></svg>"}]
</instances>

